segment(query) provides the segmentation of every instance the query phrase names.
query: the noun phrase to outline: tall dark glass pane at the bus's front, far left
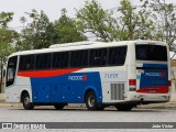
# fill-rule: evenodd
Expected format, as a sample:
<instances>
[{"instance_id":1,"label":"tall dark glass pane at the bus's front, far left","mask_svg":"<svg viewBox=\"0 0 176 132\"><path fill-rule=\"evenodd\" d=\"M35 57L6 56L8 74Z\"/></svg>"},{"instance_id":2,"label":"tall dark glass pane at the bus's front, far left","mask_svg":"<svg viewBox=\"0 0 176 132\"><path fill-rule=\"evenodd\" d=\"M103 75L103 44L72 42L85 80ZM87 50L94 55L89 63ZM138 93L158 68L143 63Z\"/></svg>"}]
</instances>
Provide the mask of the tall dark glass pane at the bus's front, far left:
<instances>
[{"instance_id":1,"label":"tall dark glass pane at the bus's front, far left","mask_svg":"<svg viewBox=\"0 0 176 132\"><path fill-rule=\"evenodd\" d=\"M6 81L7 87L13 85L14 82L15 73L16 73L16 62L18 62L18 56L13 56L9 58L8 68L7 68L7 81Z\"/></svg>"}]
</instances>

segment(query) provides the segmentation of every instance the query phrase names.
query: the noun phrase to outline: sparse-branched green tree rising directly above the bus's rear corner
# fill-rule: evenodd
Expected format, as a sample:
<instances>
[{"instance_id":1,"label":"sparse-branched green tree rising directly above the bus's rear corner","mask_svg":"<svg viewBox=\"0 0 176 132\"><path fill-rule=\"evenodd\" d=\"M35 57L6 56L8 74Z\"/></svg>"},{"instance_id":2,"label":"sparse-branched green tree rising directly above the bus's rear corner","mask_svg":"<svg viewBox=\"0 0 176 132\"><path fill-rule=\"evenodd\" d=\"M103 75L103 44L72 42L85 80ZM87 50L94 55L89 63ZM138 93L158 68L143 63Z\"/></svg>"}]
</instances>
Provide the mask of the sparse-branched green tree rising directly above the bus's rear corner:
<instances>
[{"instance_id":1,"label":"sparse-branched green tree rising directly above the bus's rear corner","mask_svg":"<svg viewBox=\"0 0 176 132\"><path fill-rule=\"evenodd\" d=\"M136 9L129 0L122 0L118 13L120 13L120 18L117 19L118 40L152 38L154 24L150 18L151 12L146 11L145 7Z\"/></svg>"}]
</instances>

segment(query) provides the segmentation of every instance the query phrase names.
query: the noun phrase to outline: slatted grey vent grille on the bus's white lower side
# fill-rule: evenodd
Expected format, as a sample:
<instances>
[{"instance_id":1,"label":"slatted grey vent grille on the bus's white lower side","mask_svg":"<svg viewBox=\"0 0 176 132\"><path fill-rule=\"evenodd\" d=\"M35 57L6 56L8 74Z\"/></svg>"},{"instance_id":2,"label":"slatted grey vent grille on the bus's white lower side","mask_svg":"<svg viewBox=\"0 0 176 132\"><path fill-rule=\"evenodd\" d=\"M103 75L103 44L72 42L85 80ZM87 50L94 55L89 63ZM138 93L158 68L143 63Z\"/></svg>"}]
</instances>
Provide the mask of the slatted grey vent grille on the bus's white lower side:
<instances>
[{"instance_id":1,"label":"slatted grey vent grille on the bus's white lower side","mask_svg":"<svg viewBox=\"0 0 176 132\"><path fill-rule=\"evenodd\" d=\"M124 84L111 84L111 100L124 100Z\"/></svg>"}]
</instances>

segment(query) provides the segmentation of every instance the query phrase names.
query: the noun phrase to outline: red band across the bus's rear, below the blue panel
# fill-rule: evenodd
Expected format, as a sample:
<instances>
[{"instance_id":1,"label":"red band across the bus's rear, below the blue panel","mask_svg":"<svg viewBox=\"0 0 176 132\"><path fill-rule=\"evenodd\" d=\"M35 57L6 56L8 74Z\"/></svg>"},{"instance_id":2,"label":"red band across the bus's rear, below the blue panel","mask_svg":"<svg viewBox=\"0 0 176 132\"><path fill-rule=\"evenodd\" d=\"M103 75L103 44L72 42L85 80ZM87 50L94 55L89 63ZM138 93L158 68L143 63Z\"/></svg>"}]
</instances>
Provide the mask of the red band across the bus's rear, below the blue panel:
<instances>
[{"instance_id":1,"label":"red band across the bus's rear, below the blue panel","mask_svg":"<svg viewBox=\"0 0 176 132\"><path fill-rule=\"evenodd\" d=\"M150 88L140 88L136 92L144 92L144 94L167 94L168 86L153 86Z\"/></svg>"}]
</instances>

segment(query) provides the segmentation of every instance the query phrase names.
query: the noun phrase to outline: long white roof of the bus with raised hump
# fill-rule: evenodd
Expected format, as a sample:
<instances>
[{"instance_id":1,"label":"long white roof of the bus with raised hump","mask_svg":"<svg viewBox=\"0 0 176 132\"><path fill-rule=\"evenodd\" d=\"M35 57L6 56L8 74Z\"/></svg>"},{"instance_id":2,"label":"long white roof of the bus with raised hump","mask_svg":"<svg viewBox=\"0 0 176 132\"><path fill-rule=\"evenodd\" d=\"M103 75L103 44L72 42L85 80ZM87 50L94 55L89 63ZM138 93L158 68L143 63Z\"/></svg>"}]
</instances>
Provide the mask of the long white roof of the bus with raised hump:
<instances>
[{"instance_id":1,"label":"long white roof of the bus with raised hump","mask_svg":"<svg viewBox=\"0 0 176 132\"><path fill-rule=\"evenodd\" d=\"M97 47L112 47L112 46L122 46L128 44L160 44L160 45L166 45L163 42L158 41L120 41L120 42L76 42L76 43L66 43L66 44L54 44L51 45L50 48L42 48L42 50L31 50L31 51L22 51L13 53L10 56L15 55L30 55L30 54L42 54L42 53L51 53L51 52L64 52L64 51L78 51L78 50L89 50L89 48L97 48Z\"/></svg>"}]
</instances>

